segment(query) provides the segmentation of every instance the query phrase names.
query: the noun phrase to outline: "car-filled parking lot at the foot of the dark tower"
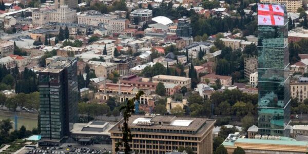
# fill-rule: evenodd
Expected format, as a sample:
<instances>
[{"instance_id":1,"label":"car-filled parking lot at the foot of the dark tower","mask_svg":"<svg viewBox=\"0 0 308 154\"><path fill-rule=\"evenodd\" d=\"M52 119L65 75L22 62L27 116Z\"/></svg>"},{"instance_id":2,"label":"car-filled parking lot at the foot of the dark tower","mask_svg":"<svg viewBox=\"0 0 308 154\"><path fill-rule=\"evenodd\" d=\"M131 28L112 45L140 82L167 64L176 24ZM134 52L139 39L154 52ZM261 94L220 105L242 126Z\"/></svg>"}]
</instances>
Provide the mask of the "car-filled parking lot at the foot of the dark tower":
<instances>
[{"instance_id":1,"label":"car-filled parking lot at the foot of the dark tower","mask_svg":"<svg viewBox=\"0 0 308 154\"><path fill-rule=\"evenodd\" d=\"M39 147L37 149L28 150L27 154L46 154L46 153L54 153L54 154L84 154L84 153L104 153L110 151L110 145L91 145L87 147L81 147L78 144L63 144L60 147Z\"/></svg>"}]
</instances>

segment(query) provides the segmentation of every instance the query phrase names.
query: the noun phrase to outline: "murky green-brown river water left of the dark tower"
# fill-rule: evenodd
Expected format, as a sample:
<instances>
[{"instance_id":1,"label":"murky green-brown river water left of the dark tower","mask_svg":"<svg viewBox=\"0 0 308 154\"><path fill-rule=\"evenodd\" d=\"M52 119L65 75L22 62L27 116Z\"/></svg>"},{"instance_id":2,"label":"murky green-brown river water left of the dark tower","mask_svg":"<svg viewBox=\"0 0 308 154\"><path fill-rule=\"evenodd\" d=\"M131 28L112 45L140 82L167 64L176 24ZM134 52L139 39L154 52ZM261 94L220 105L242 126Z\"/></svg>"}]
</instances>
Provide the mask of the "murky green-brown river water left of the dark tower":
<instances>
[{"instance_id":1,"label":"murky green-brown river water left of the dark tower","mask_svg":"<svg viewBox=\"0 0 308 154\"><path fill-rule=\"evenodd\" d=\"M14 117L10 117L8 115L0 115L0 120L3 119L11 119L14 122ZM27 130L32 130L33 128L37 128L37 119L30 119L30 118L17 118L17 128L20 129L24 125ZM13 124L13 129L15 129L15 125Z\"/></svg>"}]
</instances>

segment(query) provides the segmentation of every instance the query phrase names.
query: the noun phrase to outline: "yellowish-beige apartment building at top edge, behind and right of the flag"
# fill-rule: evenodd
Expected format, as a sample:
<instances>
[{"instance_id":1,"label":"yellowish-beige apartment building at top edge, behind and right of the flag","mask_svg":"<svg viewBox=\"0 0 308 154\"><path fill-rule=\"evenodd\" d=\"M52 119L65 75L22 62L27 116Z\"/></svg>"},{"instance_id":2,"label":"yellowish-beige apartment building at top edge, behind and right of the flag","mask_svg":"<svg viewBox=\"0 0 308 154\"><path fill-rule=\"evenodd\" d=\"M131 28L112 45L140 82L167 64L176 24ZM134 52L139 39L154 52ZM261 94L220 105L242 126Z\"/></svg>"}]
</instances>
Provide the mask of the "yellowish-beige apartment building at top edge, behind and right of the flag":
<instances>
[{"instance_id":1,"label":"yellowish-beige apartment building at top edge, behind and right of the flag","mask_svg":"<svg viewBox=\"0 0 308 154\"><path fill-rule=\"evenodd\" d=\"M302 0L261 0L261 3L285 3L287 12L297 12L299 7L302 7Z\"/></svg>"}]
</instances>

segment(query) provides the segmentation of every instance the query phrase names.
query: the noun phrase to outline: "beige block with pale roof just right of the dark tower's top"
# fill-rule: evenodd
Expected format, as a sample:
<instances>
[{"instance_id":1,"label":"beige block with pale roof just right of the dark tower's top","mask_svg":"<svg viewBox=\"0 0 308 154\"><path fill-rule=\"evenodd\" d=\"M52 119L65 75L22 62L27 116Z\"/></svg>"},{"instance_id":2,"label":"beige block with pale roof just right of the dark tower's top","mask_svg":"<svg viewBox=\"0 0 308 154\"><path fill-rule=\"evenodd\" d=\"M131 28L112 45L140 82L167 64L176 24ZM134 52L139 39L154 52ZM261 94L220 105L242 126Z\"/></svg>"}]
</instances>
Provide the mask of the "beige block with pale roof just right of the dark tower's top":
<instances>
[{"instance_id":1,"label":"beige block with pale roof just right of the dark tower's top","mask_svg":"<svg viewBox=\"0 0 308 154\"><path fill-rule=\"evenodd\" d=\"M89 61L88 66L94 70L95 75L99 77L107 77L109 73L118 70L117 63Z\"/></svg>"}]
</instances>

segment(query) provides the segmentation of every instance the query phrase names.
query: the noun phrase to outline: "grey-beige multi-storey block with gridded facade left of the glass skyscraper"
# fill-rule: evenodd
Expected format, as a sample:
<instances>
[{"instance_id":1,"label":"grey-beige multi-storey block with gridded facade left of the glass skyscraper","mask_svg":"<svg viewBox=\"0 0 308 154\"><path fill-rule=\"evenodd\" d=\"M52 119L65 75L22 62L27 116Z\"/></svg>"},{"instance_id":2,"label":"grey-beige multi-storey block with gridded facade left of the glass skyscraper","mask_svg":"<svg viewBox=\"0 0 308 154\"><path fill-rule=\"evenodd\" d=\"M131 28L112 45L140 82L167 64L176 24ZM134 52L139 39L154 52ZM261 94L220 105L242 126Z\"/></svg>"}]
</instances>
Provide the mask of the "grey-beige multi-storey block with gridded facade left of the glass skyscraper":
<instances>
[{"instance_id":1,"label":"grey-beige multi-storey block with gridded facade left of the glass skyscraper","mask_svg":"<svg viewBox=\"0 0 308 154\"><path fill-rule=\"evenodd\" d=\"M258 57L249 56L244 58L244 75L249 79L249 75L258 71Z\"/></svg>"}]
</instances>

